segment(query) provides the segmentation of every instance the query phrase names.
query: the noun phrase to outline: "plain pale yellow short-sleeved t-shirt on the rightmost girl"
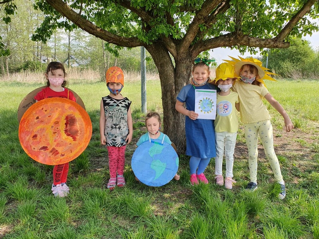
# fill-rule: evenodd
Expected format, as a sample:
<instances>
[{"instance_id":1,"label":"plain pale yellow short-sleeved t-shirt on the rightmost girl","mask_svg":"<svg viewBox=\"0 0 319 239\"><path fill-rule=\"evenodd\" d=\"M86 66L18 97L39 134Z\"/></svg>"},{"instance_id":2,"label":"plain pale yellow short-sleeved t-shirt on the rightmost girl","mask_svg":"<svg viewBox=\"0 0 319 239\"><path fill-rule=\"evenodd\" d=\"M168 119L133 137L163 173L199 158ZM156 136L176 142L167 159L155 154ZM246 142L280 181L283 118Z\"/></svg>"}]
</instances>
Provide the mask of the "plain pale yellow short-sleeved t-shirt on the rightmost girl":
<instances>
[{"instance_id":1,"label":"plain pale yellow short-sleeved t-shirt on the rightmost girl","mask_svg":"<svg viewBox=\"0 0 319 239\"><path fill-rule=\"evenodd\" d=\"M257 86L236 81L232 89L237 92L239 96L240 118L242 123L250 124L270 119L269 112L263 104L263 98L269 91L263 84Z\"/></svg>"}]
</instances>

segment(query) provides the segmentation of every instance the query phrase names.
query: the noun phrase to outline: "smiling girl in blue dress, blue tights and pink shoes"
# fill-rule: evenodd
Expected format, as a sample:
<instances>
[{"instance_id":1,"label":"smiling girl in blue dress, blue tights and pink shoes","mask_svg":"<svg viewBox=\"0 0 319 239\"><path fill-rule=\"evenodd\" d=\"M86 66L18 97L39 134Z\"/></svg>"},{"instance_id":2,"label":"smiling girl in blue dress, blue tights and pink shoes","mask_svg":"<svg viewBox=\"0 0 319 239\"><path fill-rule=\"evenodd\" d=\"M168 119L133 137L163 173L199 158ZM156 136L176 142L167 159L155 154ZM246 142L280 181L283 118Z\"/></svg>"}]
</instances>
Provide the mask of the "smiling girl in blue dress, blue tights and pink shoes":
<instances>
[{"instance_id":1,"label":"smiling girl in blue dress, blue tights and pink shoes","mask_svg":"<svg viewBox=\"0 0 319 239\"><path fill-rule=\"evenodd\" d=\"M198 180L208 184L204 171L211 158L216 156L214 120L197 119L198 114L195 113L195 89L217 90L215 85L207 83L210 81L209 62L211 60L201 58L194 60L191 83L182 88L175 104L178 112L188 116L185 118L185 132L186 155L191 156L191 185L198 184Z\"/></svg>"}]
</instances>

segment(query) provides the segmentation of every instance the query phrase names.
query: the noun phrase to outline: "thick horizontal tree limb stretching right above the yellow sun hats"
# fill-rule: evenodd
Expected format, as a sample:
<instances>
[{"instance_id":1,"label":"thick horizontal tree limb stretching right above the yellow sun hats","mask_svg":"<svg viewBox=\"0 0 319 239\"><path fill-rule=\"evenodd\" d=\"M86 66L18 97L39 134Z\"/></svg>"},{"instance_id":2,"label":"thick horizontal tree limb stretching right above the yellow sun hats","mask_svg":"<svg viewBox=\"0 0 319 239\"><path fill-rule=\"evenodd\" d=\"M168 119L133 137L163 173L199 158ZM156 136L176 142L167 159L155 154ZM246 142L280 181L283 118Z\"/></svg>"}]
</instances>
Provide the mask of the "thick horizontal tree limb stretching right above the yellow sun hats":
<instances>
[{"instance_id":1,"label":"thick horizontal tree limb stretching right above the yellow sun hats","mask_svg":"<svg viewBox=\"0 0 319 239\"><path fill-rule=\"evenodd\" d=\"M248 46L248 47L263 47L263 48L287 48L289 42L280 41L277 38L263 39L250 37L248 35L239 35L238 33L228 33L226 35L214 37L195 44L191 52L194 55L217 47L233 47L233 46Z\"/></svg>"}]
</instances>

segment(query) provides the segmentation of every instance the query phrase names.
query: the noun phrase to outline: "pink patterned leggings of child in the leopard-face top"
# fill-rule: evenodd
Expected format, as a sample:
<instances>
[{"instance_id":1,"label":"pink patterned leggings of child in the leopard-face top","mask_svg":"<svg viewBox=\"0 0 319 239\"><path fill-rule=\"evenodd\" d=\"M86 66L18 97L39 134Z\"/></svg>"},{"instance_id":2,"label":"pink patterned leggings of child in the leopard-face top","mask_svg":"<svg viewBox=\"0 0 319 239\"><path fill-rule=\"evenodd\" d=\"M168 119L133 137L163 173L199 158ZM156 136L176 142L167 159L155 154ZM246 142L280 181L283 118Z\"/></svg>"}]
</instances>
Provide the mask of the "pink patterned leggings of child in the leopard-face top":
<instances>
[{"instance_id":1,"label":"pink patterned leggings of child in the leopard-face top","mask_svg":"<svg viewBox=\"0 0 319 239\"><path fill-rule=\"evenodd\" d=\"M123 175L126 145L122 147L107 146L107 148L110 177L116 177L116 172L118 175Z\"/></svg>"}]
</instances>

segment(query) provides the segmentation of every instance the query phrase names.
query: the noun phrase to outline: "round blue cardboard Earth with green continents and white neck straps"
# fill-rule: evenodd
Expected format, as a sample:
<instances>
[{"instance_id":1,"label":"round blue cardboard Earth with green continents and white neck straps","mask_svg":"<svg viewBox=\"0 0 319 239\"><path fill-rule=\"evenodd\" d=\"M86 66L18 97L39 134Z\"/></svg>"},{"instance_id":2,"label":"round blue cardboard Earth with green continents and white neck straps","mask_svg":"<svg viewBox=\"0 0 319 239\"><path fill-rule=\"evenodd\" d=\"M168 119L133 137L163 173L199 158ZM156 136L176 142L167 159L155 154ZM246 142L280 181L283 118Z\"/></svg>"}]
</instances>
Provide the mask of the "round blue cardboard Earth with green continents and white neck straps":
<instances>
[{"instance_id":1,"label":"round blue cardboard Earth with green continents and white neck straps","mask_svg":"<svg viewBox=\"0 0 319 239\"><path fill-rule=\"evenodd\" d=\"M165 136L166 137L166 136ZM159 187L173 179L178 170L179 159L175 149L167 142L151 139L134 151L131 166L138 180L148 186Z\"/></svg>"}]
</instances>

